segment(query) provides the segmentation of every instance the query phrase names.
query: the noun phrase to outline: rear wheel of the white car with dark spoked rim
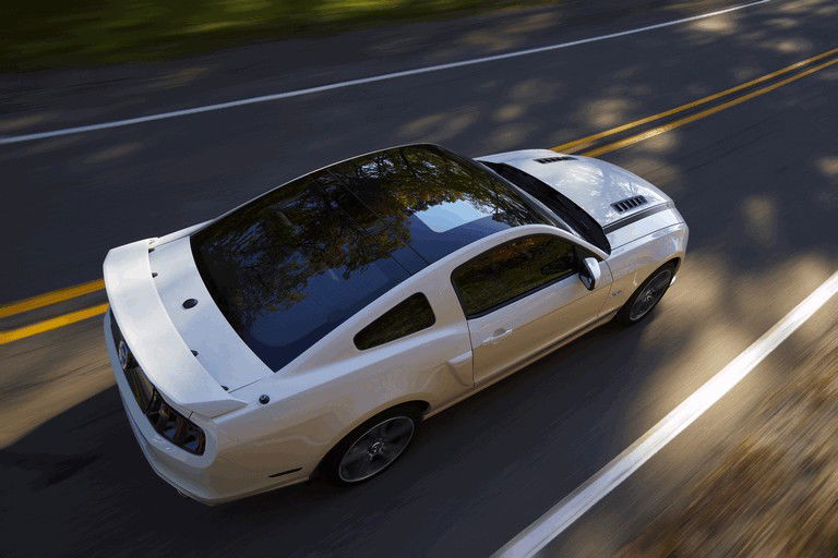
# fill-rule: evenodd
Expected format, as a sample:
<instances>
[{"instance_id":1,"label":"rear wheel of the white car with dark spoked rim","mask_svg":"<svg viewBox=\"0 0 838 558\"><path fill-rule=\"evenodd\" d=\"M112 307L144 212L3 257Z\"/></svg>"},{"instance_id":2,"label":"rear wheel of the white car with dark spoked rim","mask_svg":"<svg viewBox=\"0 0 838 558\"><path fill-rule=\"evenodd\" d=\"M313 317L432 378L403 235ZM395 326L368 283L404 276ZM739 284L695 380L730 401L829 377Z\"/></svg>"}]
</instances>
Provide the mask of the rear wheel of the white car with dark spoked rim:
<instances>
[{"instance_id":1,"label":"rear wheel of the white car with dark spoked rim","mask_svg":"<svg viewBox=\"0 0 838 558\"><path fill-rule=\"evenodd\" d=\"M421 413L395 407L364 422L346 435L325 457L321 474L332 484L354 486L390 469L419 429Z\"/></svg>"}]
</instances>

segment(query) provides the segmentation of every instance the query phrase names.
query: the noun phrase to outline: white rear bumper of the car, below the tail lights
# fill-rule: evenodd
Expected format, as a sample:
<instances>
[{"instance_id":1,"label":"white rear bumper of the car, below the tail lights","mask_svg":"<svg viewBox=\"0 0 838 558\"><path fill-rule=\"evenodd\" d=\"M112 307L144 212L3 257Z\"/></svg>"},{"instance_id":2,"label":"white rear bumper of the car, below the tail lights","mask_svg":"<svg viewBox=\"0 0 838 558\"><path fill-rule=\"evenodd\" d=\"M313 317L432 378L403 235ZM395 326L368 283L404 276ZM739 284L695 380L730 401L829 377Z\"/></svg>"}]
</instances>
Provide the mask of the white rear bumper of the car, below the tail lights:
<instances>
[{"instance_id":1,"label":"white rear bumper of the car, below the tail lights","mask_svg":"<svg viewBox=\"0 0 838 558\"><path fill-rule=\"evenodd\" d=\"M105 341L119 396L140 449L160 478L182 495L211 506L292 484L277 483L219 457L206 428L207 448L202 456L191 454L157 434L136 403L119 364L110 320L110 313L105 314Z\"/></svg>"}]
</instances>

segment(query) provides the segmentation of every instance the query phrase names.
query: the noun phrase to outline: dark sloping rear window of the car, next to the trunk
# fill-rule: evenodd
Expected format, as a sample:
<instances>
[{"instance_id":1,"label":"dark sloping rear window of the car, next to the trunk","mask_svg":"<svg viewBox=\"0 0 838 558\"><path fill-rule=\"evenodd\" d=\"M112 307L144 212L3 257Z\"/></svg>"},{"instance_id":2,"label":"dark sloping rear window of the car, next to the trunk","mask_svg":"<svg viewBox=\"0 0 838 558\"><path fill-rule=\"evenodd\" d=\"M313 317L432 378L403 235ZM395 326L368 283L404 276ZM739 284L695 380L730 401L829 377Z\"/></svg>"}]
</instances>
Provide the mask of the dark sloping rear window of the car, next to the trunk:
<instances>
[{"instance_id":1,"label":"dark sloping rear window of the car, next to the trunk","mask_svg":"<svg viewBox=\"0 0 838 558\"><path fill-rule=\"evenodd\" d=\"M394 245L364 230L364 213L351 193L312 177L192 235L213 300L271 369L408 277Z\"/></svg>"}]
</instances>

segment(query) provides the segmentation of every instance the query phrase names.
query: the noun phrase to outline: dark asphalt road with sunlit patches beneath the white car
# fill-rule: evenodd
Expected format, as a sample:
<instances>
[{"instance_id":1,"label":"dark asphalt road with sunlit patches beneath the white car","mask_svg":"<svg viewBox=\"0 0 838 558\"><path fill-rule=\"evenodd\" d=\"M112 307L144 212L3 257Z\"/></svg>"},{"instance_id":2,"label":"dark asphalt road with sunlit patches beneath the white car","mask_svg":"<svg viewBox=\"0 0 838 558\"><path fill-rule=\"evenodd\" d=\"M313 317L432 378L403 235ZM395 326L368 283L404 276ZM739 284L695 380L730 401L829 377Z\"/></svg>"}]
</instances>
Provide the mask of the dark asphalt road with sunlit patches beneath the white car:
<instances>
[{"instance_id":1,"label":"dark asphalt road with sunlit patches beneath the white car","mask_svg":"<svg viewBox=\"0 0 838 558\"><path fill-rule=\"evenodd\" d=\"M565 33L656 17L632 13ZM547 28L539 21L526 24ZM536 29L528 39L525 26L508 48L537 46L527 43L544 38ZM0 208L10 239L1 250L12 265L0 292L14 300L94 279L109 246L212 217L357 153L416 141L469 155L558 145L835 48L836 29L834 2L775 0L554 52L3 146L11 194ZM439 63L454 53L434 56ZM0 554L491 554L838 268L836 81L831 66L606 155L668 192L691 227L687 262L656 314L631 329L604 326L430 420L402 462L350 490L315 483L217 508L180 498L130 434L99 320L0 345ZM244 83L242 96L252 87ZM85 116L74 108L85 94L68 95L52 114L61 125ZM86 95L96 99L95 89ZM202 102L206 95L195 92ZM834 335L836 310L823 308L550 551L619 548L691 468L711 459L737 413L783 381L795 351Z\"/></svg>"}]
</instances>

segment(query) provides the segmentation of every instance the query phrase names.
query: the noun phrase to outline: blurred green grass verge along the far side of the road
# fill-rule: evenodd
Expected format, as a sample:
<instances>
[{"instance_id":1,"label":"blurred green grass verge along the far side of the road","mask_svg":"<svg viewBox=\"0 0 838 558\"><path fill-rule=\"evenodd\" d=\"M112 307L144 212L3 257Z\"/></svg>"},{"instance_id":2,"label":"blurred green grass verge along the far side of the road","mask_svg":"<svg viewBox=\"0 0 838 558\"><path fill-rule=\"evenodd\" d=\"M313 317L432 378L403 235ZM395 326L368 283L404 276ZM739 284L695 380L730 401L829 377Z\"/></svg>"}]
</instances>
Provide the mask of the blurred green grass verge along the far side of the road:
<instances>
[{"instance_id":1,"label":"blurred green grass verge along the far side of the road","mask_svg":"<svg viewBox=\"0 0 838 558\"><path fill-rule=\"evenodd\" d=\"M548 0L540 0L541 2ZM522 0L4 0L0 71L160 60Z\"/></svg>"}]
</instances>

